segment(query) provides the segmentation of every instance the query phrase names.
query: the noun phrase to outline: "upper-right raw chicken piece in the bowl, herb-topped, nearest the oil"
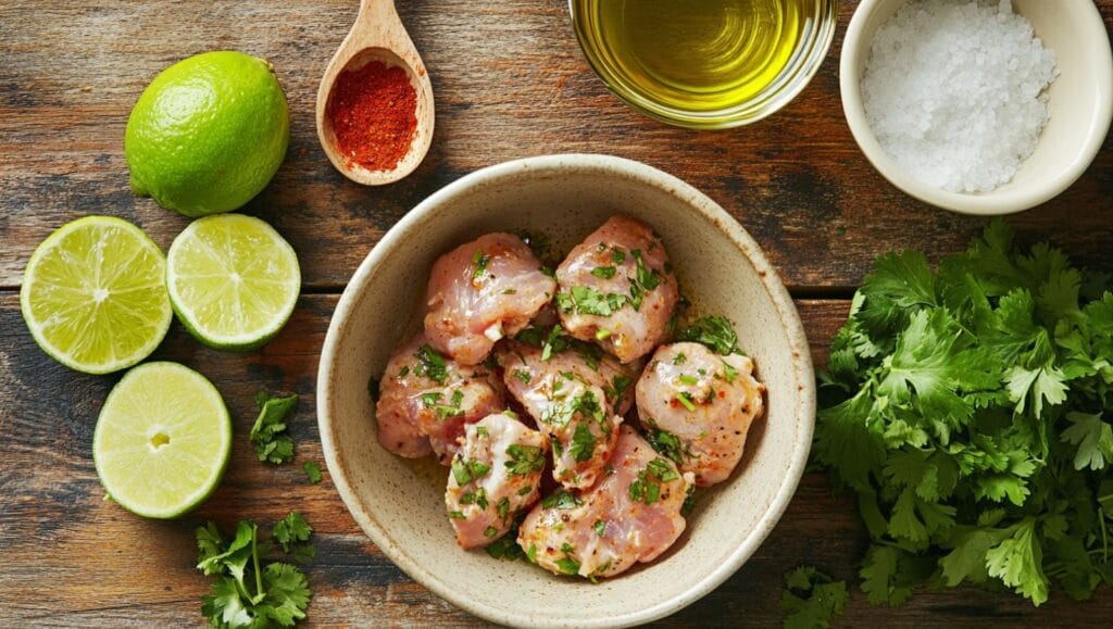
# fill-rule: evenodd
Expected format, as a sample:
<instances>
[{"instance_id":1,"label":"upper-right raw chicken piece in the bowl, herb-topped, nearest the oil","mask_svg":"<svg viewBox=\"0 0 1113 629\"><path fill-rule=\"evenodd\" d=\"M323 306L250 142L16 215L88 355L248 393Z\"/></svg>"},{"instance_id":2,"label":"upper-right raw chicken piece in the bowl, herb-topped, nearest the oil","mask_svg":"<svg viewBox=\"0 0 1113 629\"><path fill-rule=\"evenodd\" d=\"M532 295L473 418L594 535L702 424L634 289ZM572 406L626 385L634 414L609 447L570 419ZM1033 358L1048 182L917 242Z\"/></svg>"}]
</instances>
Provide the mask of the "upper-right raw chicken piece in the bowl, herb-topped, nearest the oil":
<instances>
[{"instance_id":1,"label":"upper-right raw chicken piece in the bowl, herb-topped, nearest the oil","mask_svg":"<svg viewBox=\"0 0 1113 629\"><path fill-rule=\"evenodd\" d=\"M664 246L646 224L621 215L568 254L556 282L568 333L600 343L623 363L666 341L680 296Z\"/></svg>"}]
</instances>

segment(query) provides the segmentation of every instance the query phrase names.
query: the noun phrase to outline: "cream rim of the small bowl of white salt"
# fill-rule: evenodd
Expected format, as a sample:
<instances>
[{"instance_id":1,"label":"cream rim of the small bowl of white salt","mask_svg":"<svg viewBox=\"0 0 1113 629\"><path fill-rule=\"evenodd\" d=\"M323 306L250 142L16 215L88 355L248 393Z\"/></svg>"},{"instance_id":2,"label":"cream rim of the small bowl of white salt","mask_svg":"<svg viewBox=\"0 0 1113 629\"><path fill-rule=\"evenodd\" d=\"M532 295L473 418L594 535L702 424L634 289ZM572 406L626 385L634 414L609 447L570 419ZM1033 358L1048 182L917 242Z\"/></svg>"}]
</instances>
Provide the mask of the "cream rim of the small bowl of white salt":
<instances>
[{"instance_id":1,"label":"cream rim of the small bowl of white salt","mask_svg":"<svg viewBox=\"0 0 1113 629\"><path fill-rule=\"evenodd\" d=\"M998 216L1031 209L1058 196L1082 177L1086 168L1097 157L1105 141L1105 136L1109 134L1110 124L1113 121L1113 52L1111 52L1109 37L1105 32L1105 22L1097 7L1091 0L1075 1L1066 7L1086 13L1089 19L1085 20L1085 23L1089 24L1086 27L1089 31L1077 33L1077 37L1095 40L1095 46L1101 52L1104 52L1096 61L1104 66L1103 71L1093 77L1097 107L1091 119L1090 135L1073 156L1070 167L1057 176L1037 183L1028 189L983 194L952 193L925 184L905 173L881 148L873 129L866 122L865 106L859 89L861 72L855 58L858 57L859 52L869 53L868 46L871 42L865 41L866 22L885 1L887 0L861 0L850 18L846 35L843 37L843 50L839 55L839 92L843 100L843 114L858 148L866 155L866 159L869 160L875 170L914 198L935 207L972 216ZM909 1L913 0L904 0L905 3ZM864 52L861 52L863 48L866 48Z\"/></svg>"}]
</instances>

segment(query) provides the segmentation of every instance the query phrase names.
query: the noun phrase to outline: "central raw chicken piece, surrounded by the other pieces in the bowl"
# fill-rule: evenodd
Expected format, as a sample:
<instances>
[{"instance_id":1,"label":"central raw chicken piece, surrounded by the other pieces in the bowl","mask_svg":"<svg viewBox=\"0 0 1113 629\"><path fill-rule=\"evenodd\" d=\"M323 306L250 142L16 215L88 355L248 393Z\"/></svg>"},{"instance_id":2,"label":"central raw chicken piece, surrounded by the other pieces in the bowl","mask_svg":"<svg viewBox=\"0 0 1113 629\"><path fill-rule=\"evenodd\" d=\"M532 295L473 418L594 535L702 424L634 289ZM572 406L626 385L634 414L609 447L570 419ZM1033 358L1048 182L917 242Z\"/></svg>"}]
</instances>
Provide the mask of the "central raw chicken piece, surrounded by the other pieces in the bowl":
<instances>
[{"instance_id":1,"label":"central raw chicken piece, surrounded by the other pieces in the bowl","mask_svg":"<svg viewBox=\"0 0 1113 629\"><path fill-rule=\"evenodd\" d=\"M632 401L636 373L581 342L545 351L518 341L496 350L503 380L553 449L553 478L569 489L595 483ZM552 347L552 343L550 343Z\"/></svg>"}]
</instances>

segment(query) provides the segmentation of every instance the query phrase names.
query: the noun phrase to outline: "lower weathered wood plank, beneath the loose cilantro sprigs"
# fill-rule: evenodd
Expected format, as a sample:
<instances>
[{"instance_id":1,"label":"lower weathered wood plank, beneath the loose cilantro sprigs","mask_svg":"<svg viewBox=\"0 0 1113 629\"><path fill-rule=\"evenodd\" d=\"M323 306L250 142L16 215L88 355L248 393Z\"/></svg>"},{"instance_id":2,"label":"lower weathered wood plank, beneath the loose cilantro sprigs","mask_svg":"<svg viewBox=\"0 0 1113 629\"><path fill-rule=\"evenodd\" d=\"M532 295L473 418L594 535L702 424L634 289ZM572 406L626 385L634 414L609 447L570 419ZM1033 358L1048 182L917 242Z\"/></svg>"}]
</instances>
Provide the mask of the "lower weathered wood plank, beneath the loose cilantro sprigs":
<instances>
[{"instance_id":1,"label":"lower weathered wood plank, beneath the loose cilantro sprigs","mask_svg":"<svg viewBox=\"0 0 1113 629\"><path fill-rule=\"evenodd\" d=\"M244 518L269 527L298 510L316 528L308 568L317 625L472 626L477 620L412 582L356 528L329 482L309 484L305 460L323 461L314 412L318 350L337 297L303 297L287 330L263 352L223 354L200 347L178 326L156 354L185 362L224 394L237 429L235 454L220 489L198 512L174 522L132 517L101 500L90 458L96 415L114 376L75 374L36 346L19 315L18 296L0 293L0 626L154 626L199 621L207 579L194 567L194 527L225 529ZM846 316L847 302L798 302L817 363ZM260 387L296 391L293 465L258 463L247 443L252 396ZM855 578L866 546L854 504L833 495L826 476L805 476L780 524L754 558L706 599L667 626L775 627L784 572L814 563ZM496 564L492 566L496 569ZM954 625L986 618L1017 627L1104 623L1113 594L1073 603L1053 598L1038 610L1008 593L961 589L922 592L900 610L870 607L855 596L847 626Z\"/></svg>"}]
</instances>

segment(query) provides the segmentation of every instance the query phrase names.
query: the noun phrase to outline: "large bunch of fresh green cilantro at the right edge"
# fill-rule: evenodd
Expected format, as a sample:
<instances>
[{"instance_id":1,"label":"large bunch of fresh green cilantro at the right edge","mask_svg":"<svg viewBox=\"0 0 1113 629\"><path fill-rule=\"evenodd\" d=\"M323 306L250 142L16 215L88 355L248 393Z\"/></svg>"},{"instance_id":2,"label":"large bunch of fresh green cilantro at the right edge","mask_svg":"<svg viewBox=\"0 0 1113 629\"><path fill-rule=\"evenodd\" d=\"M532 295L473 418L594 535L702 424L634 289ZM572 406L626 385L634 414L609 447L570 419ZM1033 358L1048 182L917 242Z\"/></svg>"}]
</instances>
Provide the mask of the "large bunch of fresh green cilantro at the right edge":
<instances>
[{"instance_id":1,"label":"large bunch of fresh green cilantro at the right edge","mask_svg":"<svg viewBox=\"0 0 1113 629\"><path fill-rule=\"evenodd\" d=\"M815 459L857 492L875 605L994 582L1041 605L1113 579L1109 277L1001 220L933 272L881 256L819 374Z\"/></svg>"}]
</instances>

